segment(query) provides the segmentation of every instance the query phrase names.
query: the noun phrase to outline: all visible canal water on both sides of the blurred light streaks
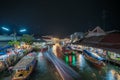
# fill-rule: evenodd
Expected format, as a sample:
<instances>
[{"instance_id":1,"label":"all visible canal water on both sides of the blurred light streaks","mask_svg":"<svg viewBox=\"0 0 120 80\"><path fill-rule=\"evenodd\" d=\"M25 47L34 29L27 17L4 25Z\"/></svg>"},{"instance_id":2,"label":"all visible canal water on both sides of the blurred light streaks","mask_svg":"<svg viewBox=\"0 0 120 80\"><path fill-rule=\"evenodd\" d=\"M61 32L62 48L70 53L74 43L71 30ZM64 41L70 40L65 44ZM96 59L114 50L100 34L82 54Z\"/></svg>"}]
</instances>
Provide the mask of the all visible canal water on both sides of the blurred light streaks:
<instances>
[{"instance_id":1,"label":"all visible canal water on both sides of the blurred light streaks","mask_svg":"<svg viewBox=\"0 0 120 80\"><path fill-rule=\"evenodd\" d=\"M87 62L82 54L65 55L64 62L79 73L82 80L120 80L120 67L106 63L105 67L97 68ZM58 80L50 66L48 66L43 53L38 53L37 65L28 80ZM54 70L55 71L55 70ZM119 76L118 76L119 75ZM6 76L0 80L11 80L11 76Z\"/></svg>"}]
</instances>

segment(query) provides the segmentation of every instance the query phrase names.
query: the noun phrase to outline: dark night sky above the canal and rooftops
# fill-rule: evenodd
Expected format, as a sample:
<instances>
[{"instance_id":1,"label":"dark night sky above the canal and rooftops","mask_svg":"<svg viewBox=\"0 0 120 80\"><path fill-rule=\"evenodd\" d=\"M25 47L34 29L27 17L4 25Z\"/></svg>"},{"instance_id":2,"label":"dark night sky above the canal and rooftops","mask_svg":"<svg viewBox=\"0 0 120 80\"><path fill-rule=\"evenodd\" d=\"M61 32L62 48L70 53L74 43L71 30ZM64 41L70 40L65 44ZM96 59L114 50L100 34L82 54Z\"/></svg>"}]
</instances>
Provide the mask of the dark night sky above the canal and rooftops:
<instances>
[{"instance_id":1,"label":"dark night sky above the canal and rooftops","mask_svg":"<svg viewBox=\"0 0 120 80\"><path fill-rule=\"evenodd\" d=\"M113 30L120 29L119 10L115 0L0 0L0 26L58 36L95 26Z\"/></svg>"}]
</instances>

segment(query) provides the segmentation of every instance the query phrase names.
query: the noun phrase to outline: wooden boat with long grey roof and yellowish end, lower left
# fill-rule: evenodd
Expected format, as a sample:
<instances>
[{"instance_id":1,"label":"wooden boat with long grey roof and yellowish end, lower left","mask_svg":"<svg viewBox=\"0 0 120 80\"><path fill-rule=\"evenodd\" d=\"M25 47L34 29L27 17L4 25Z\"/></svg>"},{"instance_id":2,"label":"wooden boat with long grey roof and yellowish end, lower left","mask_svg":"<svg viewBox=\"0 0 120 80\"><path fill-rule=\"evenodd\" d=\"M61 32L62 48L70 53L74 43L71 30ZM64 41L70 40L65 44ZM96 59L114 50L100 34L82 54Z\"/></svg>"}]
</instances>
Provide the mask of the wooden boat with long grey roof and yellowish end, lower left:
<instances>
[{"instance_id":1,"label":"wooden boat with long grey roof and yellowish end, lower left","mask_svg":"<svg viewBox=\"0 0 120 80\"><path fill-rule=\"evenodd\" d=\"M12 80L25 80L32 73L36 64L35 53L29 53L24 56L13 68L13 78Z\"/></svg>"}]
</instances>

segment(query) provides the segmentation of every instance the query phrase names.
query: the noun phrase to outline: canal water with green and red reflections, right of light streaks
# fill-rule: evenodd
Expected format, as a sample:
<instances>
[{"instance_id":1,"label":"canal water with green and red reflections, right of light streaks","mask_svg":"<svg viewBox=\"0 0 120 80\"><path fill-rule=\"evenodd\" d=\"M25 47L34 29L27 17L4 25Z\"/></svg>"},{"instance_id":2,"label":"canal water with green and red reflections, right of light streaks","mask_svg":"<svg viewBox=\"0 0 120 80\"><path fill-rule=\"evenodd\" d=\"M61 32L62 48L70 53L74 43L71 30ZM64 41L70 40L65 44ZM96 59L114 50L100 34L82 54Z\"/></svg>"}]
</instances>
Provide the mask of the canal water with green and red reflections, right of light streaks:
<instances>
[{"instance_id":1,"label":"canal water with green and red reflections, right of light streaks","mask_svg":"<svg viewBox=\"0 0 120 80\"><path fill-rule=\"evenodd\" d=\"M65 55L64 61L79 73L82 80L120 80L120 67L106 63L97 68L85 60L82 54Z\"/></svg>"}]
</instances>

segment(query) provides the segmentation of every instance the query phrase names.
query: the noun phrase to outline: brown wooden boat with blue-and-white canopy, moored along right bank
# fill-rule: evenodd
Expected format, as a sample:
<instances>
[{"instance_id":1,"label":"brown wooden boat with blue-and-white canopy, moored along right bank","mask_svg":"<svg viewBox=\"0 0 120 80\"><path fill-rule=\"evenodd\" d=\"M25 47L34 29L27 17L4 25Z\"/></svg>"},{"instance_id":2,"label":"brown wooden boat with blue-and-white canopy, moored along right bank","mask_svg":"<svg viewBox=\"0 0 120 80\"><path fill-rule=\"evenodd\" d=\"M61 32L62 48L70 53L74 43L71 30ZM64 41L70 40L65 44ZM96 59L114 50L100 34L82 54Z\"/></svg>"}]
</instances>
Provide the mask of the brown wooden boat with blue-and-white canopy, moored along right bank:
<instances>
[{"instance_id":1,"label":"brown wooden boat with blue-and-white canopy, moored along right bank","mask_svg":"<svg viewBox=\"0 0 120 80\"><path fill-rule=\"evenodd\" d=\"M91 62L96 67L102 67L105 66L105 63L103 62L105 59L97 55L96 53L89 52L87 50L83 50L83 54L86 60Z\"/></svg>"}]
</instances>

